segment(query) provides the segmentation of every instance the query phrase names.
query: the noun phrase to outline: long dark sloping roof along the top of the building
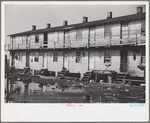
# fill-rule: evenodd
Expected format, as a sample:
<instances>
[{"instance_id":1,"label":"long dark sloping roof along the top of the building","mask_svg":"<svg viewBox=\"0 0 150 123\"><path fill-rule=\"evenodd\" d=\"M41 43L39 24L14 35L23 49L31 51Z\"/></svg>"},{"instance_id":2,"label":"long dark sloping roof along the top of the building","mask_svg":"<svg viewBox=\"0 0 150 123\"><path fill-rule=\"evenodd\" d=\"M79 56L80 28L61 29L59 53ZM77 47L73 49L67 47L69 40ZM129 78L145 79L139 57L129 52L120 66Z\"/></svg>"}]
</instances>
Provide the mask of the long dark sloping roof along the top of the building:
<instances>
[{"instance_id":1,"label":"long dark sloping roof along the top of the building","mask_svg":"<svg viewBox=\"0 0 150 123\"><path fill-rule=\"evenodd\" d=\"M116 18L91 21L91 22L86 22L86 23L72 24L72 25L67 25L67 26L58 26L58 27L51 27L51 28L44 28L44 29L37 29L37 30L29 30L29 31L16 33L16 34L10 34L8 36L19 36L19 35L42 33L42 32L53 32L53 31L61 31L61 30L81 28L81 27L85 28L85 27L97 26L97 25L108 24L108 23L110 24L110 23L115 23L115 22L131 21L131 20L136 20L139 18L144 19L145 13L132 14L132 15L121 16L121 17L116 17Z\"/></svg>"}]
</instances>

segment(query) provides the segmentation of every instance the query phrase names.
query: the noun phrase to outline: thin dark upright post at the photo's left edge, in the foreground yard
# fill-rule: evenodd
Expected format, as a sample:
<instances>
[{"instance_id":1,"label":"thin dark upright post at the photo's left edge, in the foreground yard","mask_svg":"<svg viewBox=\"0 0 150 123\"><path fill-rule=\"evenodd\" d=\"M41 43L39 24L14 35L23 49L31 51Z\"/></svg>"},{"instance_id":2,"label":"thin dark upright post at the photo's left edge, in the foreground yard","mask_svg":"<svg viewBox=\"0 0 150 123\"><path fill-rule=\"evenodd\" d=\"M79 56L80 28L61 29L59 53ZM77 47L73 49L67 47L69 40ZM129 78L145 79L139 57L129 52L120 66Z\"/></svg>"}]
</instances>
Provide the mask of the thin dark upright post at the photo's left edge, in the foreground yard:
<instances>
[{"instance_id":1,"label":"thin dark upright post at the photo's left edge, in the foreground yard","mask_svg":"<svg viewBox=\"0 0 150 123\"><path fill-rule=\"evenodd\" d=\"M7 55L5 55L5 69L7 74L7 100L6 103L8 103L9 100L9 70L8 70L8 63L7 63Z\"/></svg>"}]
</instances>

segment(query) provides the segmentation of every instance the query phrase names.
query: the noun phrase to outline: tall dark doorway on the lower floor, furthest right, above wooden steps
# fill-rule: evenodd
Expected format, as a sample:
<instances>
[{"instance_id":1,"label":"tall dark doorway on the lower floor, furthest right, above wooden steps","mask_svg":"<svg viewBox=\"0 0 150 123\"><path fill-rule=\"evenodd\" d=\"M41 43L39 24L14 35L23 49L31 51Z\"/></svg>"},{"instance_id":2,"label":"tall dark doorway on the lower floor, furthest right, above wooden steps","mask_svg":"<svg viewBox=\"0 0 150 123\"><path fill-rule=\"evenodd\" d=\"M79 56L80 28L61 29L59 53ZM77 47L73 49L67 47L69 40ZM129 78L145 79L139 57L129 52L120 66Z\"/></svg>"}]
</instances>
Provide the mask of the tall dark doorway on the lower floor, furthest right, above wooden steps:
<instances>
[{"instance_id":1,"label":"tall dark doorway on the lower floor, furthest right, above wooden steps","mask_svg":"<svg viewBox=\"0 0 150 123\"><path fill-rule=\"evenodd\" d=\"M120 72L127 72L127 50L121 50L120 56L121 56L121 63L120 63Z\"/></svg>"}]
</instances>

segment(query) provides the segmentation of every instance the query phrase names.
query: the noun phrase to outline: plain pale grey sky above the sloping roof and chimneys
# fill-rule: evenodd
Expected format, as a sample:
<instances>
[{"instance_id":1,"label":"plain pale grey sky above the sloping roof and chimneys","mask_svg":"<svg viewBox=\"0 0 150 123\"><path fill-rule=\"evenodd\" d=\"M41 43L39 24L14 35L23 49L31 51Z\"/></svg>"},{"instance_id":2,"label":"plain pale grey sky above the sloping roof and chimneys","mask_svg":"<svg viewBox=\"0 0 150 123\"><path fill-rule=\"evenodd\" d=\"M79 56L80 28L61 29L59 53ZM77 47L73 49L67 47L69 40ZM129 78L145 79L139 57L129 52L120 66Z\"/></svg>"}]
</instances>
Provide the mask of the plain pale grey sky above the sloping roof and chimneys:
<instances>
[{"instance_id":1,"label":"plain pale grey sky above the sloping roof and chimneys","mask_svg":"<svg viewBox=\"0 0 150 123\"><path fill-rule=\"evenodd\" d=\"M7 35L31 30L32 25L37 29L61 26L63 20L68 24L81 23L83 16L88 21L106 19L107 12L113 17L135 14L137 6L142 5L6 5L5 6L5 37ZM145 7L144 7L145 12Z\"/></svg>"}]
</instances>

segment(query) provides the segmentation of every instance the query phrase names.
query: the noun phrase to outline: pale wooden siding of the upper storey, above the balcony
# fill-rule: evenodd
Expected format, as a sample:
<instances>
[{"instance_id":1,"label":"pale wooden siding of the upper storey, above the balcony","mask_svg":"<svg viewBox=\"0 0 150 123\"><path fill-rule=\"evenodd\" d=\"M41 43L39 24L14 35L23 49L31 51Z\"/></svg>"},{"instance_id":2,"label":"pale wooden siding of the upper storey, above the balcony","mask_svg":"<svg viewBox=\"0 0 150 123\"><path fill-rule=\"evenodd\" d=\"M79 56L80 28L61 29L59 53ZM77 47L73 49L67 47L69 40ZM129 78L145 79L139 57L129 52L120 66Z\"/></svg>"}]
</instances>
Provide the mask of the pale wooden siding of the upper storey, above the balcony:
<instances>
[{"instance_id":1,"label":"pale wooden siding of the upper storey, above the balcony","mask_svg":"<svg viewBox=\"0 0 150 123\"><path fill-rule=\"evenodd\" d=\"M35 43L35 34L29 36L30 48L39 49L44 48L68 48L68 47L86 47L90 41L90 47L106 46L106 45L122 45L127 43L142 44L145 42L144 36L141 39L141 28L143 20L136 20L131 22L116 23L109 25L101 25L82 29L71 29L66 31L55 31L48 33L48 44L43 44L43 34L36 34L39 36L39 42ZM144 24L143 24L144 25ZM144 27L143 27L144 28ZM90 31L89 31L90 30ZM144 29L143 29L144 30ZM24 46L27 37L17 36L13 39L13 48L20 49L28 48ZM25 41L26 40L26 41ZM140 41L141 40L141 41ZM12 43L11 43L12 45ZM12 47L12 46L11 46Z\"/></svg>"}]
</instances>

